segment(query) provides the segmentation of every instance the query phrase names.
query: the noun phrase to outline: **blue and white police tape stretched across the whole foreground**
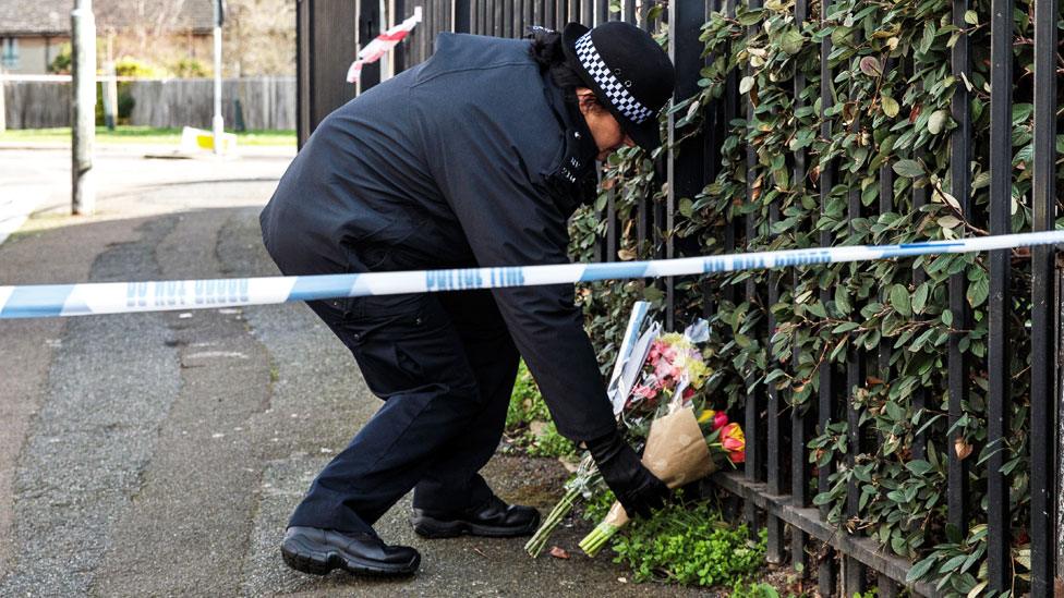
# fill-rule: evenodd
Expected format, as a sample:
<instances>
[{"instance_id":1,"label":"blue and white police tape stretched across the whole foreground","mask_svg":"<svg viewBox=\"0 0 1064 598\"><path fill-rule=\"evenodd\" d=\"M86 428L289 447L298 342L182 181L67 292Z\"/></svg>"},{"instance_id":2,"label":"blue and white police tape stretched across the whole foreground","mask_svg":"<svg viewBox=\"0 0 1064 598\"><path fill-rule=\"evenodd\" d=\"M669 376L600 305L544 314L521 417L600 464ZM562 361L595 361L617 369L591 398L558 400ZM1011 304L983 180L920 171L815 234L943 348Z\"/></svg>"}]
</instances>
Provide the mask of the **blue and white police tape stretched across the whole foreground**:
<instances>
[{"instance_id":1,"label":"blue and white police tape stretched across the whole foreground","mask_svg":"<svg viewBox=\"0 0 1064 598\"><path fill-rule=\"evenodd\" d=\"M365 295L658 278L1064 243L1064 230L903 245L812 247L651 261L410 270L302 277L0 286L0 319L210 309Z\"/></svg>"}]
</instances>

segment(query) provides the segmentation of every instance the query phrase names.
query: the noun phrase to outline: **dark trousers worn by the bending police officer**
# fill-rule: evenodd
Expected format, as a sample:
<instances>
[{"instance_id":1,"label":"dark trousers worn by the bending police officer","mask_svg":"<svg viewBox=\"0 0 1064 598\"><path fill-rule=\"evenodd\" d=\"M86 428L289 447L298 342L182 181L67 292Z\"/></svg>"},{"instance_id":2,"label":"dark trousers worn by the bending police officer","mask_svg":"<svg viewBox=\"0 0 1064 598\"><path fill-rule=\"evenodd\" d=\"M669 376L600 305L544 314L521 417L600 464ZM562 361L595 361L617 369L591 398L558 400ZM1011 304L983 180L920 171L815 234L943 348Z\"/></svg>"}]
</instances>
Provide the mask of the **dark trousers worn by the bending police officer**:
<instances>
[{"instance_id":1,"label":"dark trousers worn by the bending police officer","mask_svg":"<svg viewBox=\"0 0 1064 598\"><path fill-rule=\"evenodd\" d=\"M384 405L318 474L289 526L373 533L414 488L454 511L492 490L477 474L503 435L518 352L488 291L309 302Z\"/></svg>"}]
</instances>

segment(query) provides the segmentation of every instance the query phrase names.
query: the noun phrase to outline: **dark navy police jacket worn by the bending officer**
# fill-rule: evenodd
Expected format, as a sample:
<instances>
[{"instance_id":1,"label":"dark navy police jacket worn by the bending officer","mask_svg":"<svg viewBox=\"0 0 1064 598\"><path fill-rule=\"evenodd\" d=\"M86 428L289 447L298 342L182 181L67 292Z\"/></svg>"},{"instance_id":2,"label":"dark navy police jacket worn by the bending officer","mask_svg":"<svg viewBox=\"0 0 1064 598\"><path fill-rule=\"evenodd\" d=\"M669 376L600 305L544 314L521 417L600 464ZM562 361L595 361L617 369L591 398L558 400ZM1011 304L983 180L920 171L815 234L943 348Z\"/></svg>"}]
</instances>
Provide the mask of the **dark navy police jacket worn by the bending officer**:
<instances>
[{"instance_id":1,"label":"dark navy police jacket worn by the bending officer","mask_svg":"<svg viewBox=\"0 0 1064 598\"><path fill-rule=\"evenodd\" d=\"M327 117L262 212L281 270L568 263L567 220L597 150L529 49L443 33L430 60ZM493 292L558 431L614 429L573 286Z\"/></svg>"}]
</instances>

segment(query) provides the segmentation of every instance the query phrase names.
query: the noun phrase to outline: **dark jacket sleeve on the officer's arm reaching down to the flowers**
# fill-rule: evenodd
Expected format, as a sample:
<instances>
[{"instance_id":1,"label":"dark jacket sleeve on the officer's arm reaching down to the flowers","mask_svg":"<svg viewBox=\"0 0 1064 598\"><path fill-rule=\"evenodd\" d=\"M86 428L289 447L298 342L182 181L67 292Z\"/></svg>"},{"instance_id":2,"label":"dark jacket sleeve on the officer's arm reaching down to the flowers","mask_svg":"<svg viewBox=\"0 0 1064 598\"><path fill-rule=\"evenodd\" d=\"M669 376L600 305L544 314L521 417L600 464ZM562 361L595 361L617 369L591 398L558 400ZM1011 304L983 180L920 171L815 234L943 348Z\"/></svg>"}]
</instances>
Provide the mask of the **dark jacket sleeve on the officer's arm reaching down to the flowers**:
<instances>
[{"instance_id":1,"label":"dark jacket sleeve on the officer's arm reaching down to the flowers","mask_svg":"<svg viewBox=\"0 0 1064 598\"><path fill-rule=\"evenodd\" d=\"M555 131L540 134L553 136ZM468 129L448 131L447 146L430 151L430 168L477 264L568 264L567 216L539 182L540 173L530 169L528 154L505 136L475 136ZM555 142L553 137L548 141ZM583 315L573 301L573 285L507 288L493 293L558 431L579 442L615 429Z\"/></svg>"}]
</instances>

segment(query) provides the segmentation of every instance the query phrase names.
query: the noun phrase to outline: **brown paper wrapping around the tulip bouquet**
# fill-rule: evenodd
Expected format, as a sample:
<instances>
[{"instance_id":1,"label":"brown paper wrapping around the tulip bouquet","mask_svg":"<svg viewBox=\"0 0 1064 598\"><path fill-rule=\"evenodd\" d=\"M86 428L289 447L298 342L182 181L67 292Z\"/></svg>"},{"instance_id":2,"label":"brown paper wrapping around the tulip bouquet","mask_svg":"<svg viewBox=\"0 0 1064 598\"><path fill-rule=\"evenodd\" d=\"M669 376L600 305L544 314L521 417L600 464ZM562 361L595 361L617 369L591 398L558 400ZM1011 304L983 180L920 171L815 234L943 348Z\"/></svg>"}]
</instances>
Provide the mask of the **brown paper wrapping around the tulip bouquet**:
<instances>
[{"instance_id":1,"label":"brown paper wrapping around the tulip bouquet","mask_svg":"<svg viewBox=\"0 0 1064 598\"><path fill-rule=\"evenodd\" d=\"M642 461L669 488L701 479L717 468L691 407L677 410L651 423ZM622 527L629 517L625 508L615 502L603 521Z\"/></svg>"}]
</instances>

